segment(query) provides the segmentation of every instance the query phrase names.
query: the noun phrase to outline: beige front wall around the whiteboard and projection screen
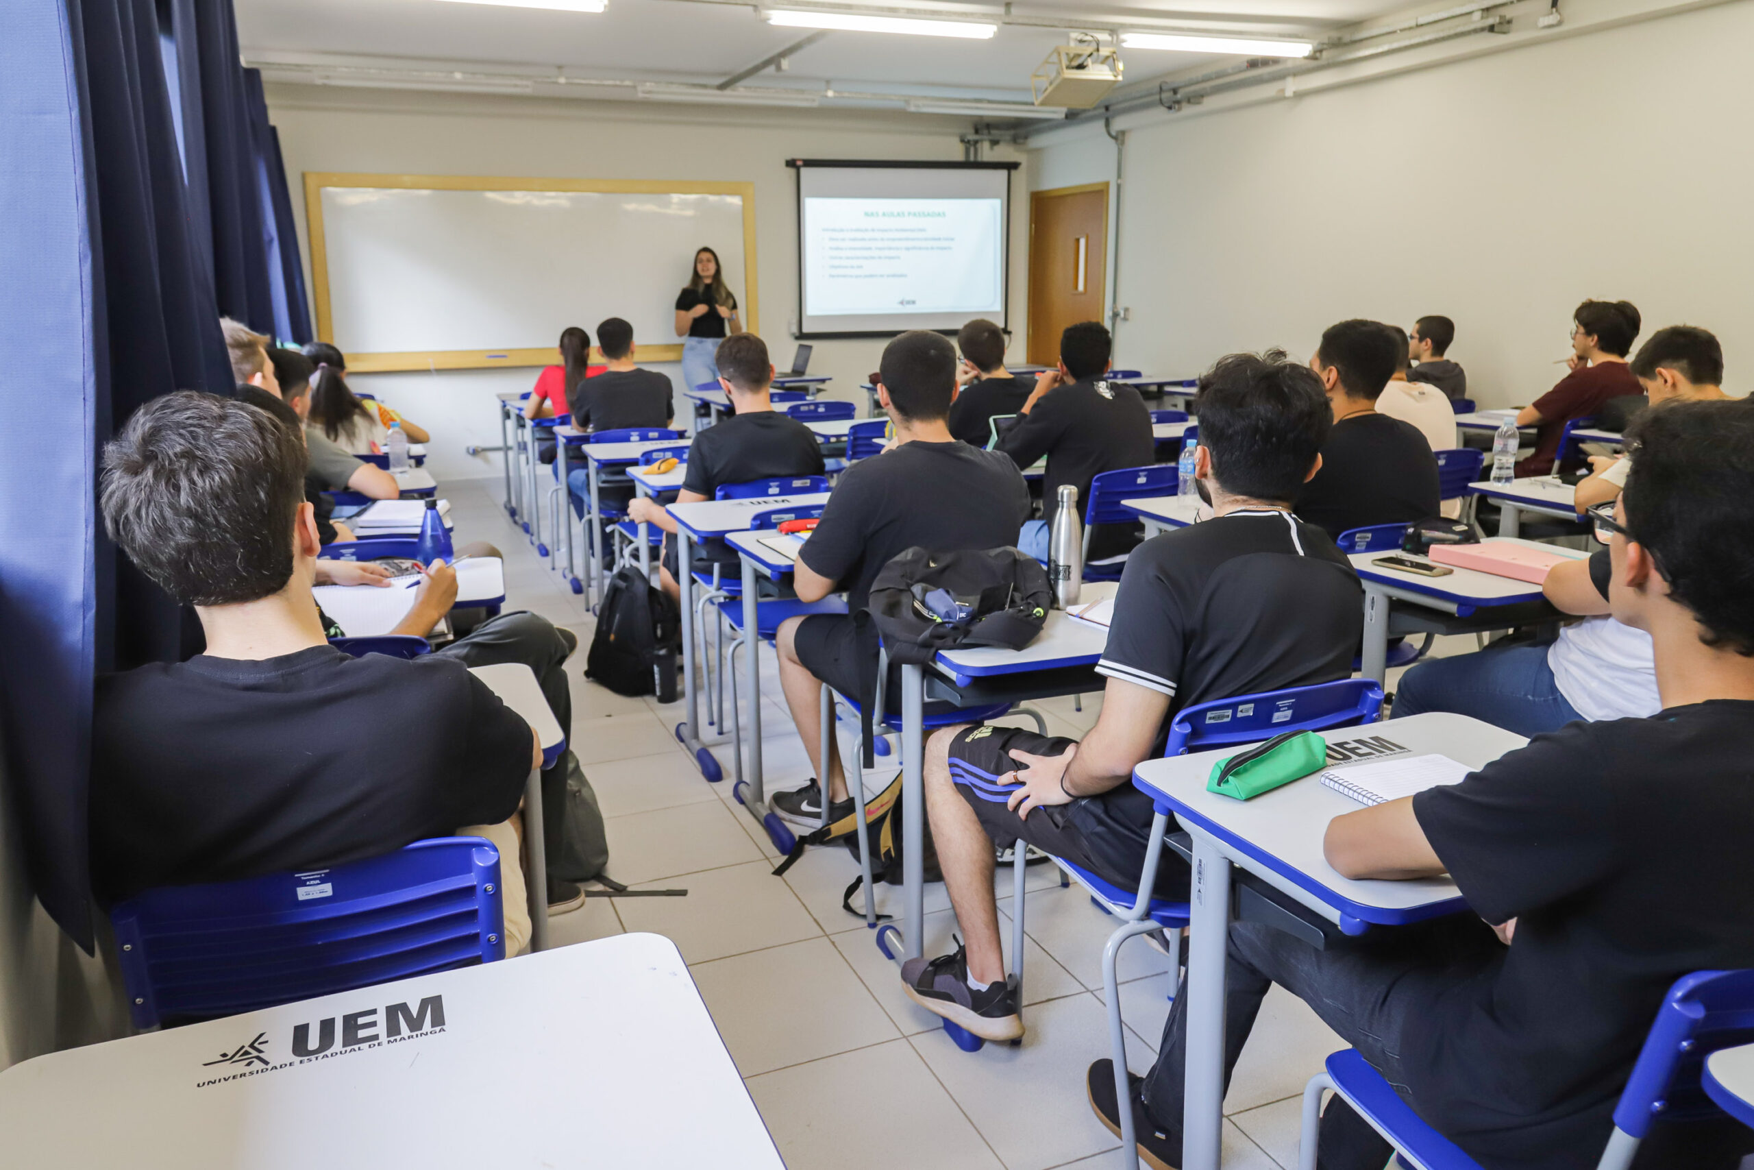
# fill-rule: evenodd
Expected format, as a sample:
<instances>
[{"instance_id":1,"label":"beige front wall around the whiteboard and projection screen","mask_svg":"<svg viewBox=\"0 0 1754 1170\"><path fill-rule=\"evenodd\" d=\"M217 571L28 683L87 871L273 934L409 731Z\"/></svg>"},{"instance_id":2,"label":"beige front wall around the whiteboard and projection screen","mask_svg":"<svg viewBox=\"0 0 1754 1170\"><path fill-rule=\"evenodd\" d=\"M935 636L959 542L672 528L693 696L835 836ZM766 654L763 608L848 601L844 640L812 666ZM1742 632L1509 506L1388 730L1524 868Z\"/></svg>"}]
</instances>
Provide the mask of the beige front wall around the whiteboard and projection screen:
<instances>
[{"instance_id":1,"label":"beige front wall around the whiteboard and projection screen","mask_svg":"<svg viewBox=\"0 0 1754 1170\"><path fill-rule=\"evenodd\" d=\"M965 119L917 114L852 116L830 111L633 105L474 95L386 93L270 86L268 112L281 132L288 181L303 228L303 172L447 175L553 175L591 179L714 179L756 184L756 254L761 335L775 360L791 360L789 325L798 310L796 181L788 158L963 158ZM989 158L1017 158L989 154ZM1026 307L1028 181L1012 181L1010 314L1023 351ZM309 261L309 256L307 256ZM307 263L309 272L309 263ZM677 275L681 286L682 277ZM588 330L595 321L581 321ZM665 339L637 339L675 342ZM817 342L812 374L828 374L830 396L863 403L859 382L877 368L881 340ZM681 382L679 367L654 367ZM528 389L535 370L393 374L351 379L384 395L435 435L438 479L500 475L498 461L463 456L465 444L498 444L493 391Z\"/></svg>"}]
</instances>

